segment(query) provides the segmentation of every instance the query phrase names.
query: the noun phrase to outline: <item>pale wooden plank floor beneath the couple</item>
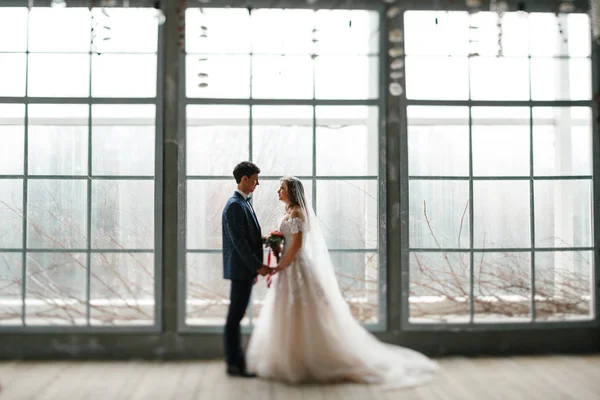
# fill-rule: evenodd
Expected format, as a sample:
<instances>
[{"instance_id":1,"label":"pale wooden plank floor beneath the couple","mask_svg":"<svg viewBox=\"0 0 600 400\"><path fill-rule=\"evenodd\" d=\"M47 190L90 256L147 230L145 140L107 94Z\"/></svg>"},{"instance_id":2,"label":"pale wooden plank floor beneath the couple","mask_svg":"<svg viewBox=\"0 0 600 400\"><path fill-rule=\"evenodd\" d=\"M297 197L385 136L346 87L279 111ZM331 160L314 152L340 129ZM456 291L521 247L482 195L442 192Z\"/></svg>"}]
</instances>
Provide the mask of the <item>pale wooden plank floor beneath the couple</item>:
<instances>
[{"instance_id":1,"label":"pale wooden plank floor beneath the couple","mask_svg":"<svg viewBox=\"0 0 600 400\"><path fill-rule=\"evenodd\" d=\"M1 400L600 399L600 355L444 358L426 386L287 386L230 378L216 361L0 362Z\"/></svg>"}]
</instances>

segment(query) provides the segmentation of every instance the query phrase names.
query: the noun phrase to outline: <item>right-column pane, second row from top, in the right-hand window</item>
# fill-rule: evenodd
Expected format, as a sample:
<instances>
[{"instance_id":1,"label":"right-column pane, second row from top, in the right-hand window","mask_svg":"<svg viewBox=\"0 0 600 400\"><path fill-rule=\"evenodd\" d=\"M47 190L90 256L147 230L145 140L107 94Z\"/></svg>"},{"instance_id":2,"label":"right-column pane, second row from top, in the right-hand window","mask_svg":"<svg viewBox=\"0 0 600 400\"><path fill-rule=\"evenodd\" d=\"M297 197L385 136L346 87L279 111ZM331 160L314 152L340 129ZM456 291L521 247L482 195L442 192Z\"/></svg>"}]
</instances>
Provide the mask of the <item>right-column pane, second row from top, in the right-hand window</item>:
<instances>
[{"instance_id":1,"label":"right-column pane, second row from top, in the right-hand window","mask_svg":"<svg viewBox=\"0 0 600 400\"><path fill-rule=\"evenodd\" d=\"M533 100L591 100L592 61L531 59Z\"/></svg>"}]
</instances>

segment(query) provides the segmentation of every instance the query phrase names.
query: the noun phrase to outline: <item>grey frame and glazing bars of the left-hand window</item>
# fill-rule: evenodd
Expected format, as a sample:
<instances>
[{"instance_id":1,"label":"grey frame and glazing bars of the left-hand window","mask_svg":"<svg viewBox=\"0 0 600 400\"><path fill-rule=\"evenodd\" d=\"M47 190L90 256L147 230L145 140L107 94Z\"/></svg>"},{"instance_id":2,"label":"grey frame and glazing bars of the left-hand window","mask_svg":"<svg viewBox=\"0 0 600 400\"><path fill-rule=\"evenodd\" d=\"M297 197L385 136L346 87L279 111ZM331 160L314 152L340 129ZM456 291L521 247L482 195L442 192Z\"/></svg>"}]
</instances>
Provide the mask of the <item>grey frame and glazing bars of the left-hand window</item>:
<instances>
[{"instance_id":1,"label":"grey frame and glazing bars of the left-hand window","mask_svg":"<svg viewBox=\"0 0 600 400\"><path fill-rule=\"evenodd\" d=\"M42 4L38 4L42 3ZM92 34L92 23L91 23L91 10L89 1L69 1L69 8L72 7L83 7L90 10L90 35ZM152 8L152 5L148 1L134 0L133 5L140 7ZM49 6L50 1L36 1L35 8ZM0 10L4 7L23 7L27 8L28 3L24 0L9 0L6 4L0 7ZM100 9L101 7L95 7ZM27 19L29 21L31 8L28 9ZM29 35L29 33L28 33ZM91 41L91 36L90 36ZM52 52L53 54L68 54L62 52ZM108 52L111 53L111 52ZM10 54L10 53L9 53ZM22 54L16 52L16 54ZM22 256L22 288L21 288L21 325L0 325L0 333L157 333L160 332L162 326L162 273L163 273L163 137L164 137L164 76L165 69L163 59L165 57L165 44L164 44L164 30L162 26L158 27L157 30L157 50L156 50L156 95L154 97L93 97L92 96L92 59L95 54L91 44L89 50L86 52L78 53L89 56L89 87L88 95L86 97L29 97L27 95L28 85L28 65L29 55L36 54L36 52L29 51L29 40L28 47L26 49L26 75L25 75L25 95L20 97L2 97L0 96L0 104L15 104L23 105L25 108L25 116L23 119L24 124L24 169L23 174L10 174L0 175L0 179L21 179L23 182L23 233L22 233L22 247L15 248L3 248L0 249L0 253L21 253ZM44 54L42 52L41 54ZM129 52L120 52L116 54L138 54ZM154 53L140 53L140 54L154 54ZM28 109L29 105L85 105L87 106L87 173L81 175L31 175L28 173ZM92 169L93 161L93 149L92 149L92 129L93 129L93 116L92 108L94 105L153 105L155 108L154 114L154 167L153 175L94 175ZM35 180L75 180L86 182L86 246L81 249L55 249L55 248L28 248L27 247L27 184L29 181ZM154 236L153 236L153 248L151 249L93 249L91 246L91 233L92 233L92 186L94 181L152 181L154 184ZM85 325L27 325L26 324L26 261L28 253L82 253L86 259L86 324ZM154 263L152 270L154 273L154 322L152 324L140 325L136 323L132 324L90 324L91 319L91 258L93 254L101 253L119 253L119 254L152 254Z\"/></svg>"}]
</instances>

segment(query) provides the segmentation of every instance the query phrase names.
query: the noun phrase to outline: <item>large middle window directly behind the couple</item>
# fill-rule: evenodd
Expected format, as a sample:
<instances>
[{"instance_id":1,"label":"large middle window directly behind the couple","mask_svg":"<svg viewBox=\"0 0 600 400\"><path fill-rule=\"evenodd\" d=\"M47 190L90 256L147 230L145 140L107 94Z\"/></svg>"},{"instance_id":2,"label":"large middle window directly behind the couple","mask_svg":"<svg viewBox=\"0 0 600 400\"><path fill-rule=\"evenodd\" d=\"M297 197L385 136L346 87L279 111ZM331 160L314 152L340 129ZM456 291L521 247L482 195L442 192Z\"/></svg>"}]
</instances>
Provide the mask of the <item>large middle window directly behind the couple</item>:
<instances>
[{"instance_id":1,"label":"large middle window directly behind the couple","mask_svg":"<svg viewBox=\"0 0 600 400\"><path fill-rule=\"evenodd\" d=\"M236 187L233 167L244 160L262 170L253 204L263 233L283 214L279 178L300 177L352 312L366 324L384 322L379 35L379 14L368 11L187 10L187 326L225 321L221 212ZM246 325L266 290L261 279Z\"/></svg>"}]
</instances>

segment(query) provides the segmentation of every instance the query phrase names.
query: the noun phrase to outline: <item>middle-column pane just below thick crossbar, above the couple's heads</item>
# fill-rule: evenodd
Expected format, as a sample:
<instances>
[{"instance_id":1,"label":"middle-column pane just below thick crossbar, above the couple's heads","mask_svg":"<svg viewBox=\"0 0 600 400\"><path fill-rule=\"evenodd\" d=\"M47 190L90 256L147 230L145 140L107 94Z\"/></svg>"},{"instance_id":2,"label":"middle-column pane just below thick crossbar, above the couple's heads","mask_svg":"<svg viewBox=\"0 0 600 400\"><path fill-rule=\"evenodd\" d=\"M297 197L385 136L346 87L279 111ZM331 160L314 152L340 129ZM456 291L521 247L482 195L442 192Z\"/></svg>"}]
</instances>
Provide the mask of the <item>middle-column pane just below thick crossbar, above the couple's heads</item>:
<instances>
[{"instance_id":1,"label":"middle-column pane just below thick crossbar, above the couple's heads","mask_svg":"<svg viewBox=\"0 0 600 400\"><path fill-rule=\"evenodd\" d=\"M252 124L252 160L265 175L312 174L312 107L256 106Z\"/></svg>"}]
</instances>

